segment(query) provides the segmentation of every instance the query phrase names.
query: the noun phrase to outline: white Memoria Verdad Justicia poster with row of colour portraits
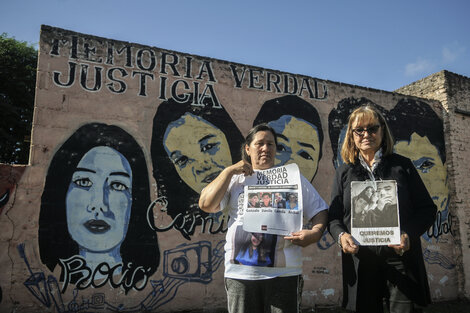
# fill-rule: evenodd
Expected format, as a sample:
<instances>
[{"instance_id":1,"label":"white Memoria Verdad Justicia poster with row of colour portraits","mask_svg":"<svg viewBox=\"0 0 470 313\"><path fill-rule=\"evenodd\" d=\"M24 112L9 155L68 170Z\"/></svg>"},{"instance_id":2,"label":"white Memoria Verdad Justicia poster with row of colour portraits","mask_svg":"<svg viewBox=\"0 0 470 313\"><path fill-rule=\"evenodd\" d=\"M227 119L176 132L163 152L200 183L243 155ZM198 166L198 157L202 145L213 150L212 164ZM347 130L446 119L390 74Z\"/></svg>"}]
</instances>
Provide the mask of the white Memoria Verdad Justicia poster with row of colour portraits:
<instances>
[{"instance_id":1,"label":"white Memoria Verdad Justicia poster with row of colour portraits","mask_svg":"<svg viewBox=\"0 0 470 313\"><path fill-rule=\"evenodd\" d=\"M255 171L246 182L243 230L285 236L302 229L302 188L296 164Z\"/></svg>"}]
</instances>

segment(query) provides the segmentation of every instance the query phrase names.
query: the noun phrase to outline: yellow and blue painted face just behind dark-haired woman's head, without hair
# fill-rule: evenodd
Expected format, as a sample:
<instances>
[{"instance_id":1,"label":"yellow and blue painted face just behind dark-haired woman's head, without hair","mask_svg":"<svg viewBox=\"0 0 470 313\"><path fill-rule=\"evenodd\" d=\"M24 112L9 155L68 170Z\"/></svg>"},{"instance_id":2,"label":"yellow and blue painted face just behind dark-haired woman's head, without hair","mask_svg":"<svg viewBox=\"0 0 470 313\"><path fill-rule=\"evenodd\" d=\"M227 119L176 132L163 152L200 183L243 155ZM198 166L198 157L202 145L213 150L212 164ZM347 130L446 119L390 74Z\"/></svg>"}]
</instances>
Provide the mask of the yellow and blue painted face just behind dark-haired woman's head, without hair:
<instances>
[{"instance_id":1,"label":"yellow and blue painted face just behind dark-haired woman's head, without hair","mask_svg":"<svg viewBox=\"0 0 470 313\"><path fill-rule=\"evenodd\" d=\"M277 134L275 165L296 163L302 175L312 181L317 172L320 155L316 126L292 115L283 115L269 125Z\"/></svg>"}]
</instances>

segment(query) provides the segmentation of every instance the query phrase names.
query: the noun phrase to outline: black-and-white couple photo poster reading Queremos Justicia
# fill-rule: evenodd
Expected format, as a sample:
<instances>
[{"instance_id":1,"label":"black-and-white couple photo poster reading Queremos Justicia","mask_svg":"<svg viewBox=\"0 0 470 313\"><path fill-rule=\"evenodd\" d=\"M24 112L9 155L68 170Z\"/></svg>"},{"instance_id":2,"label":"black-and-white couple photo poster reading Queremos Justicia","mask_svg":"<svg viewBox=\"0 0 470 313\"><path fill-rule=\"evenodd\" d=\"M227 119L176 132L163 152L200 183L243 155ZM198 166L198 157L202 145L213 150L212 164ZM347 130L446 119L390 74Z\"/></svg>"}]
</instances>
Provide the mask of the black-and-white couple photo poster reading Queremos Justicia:
<instances>
[{"instance_id":1,"label":"black-and-white couple photo poster reading Queremos Justicia","mask_svg":"<svg viewBox=\"0 0 470 313\"><path fill-rule=\"evenodd\" d=\"M351 182L351 235L360 244L400 244L397 182Z\"/></svg>"}]
</instances>

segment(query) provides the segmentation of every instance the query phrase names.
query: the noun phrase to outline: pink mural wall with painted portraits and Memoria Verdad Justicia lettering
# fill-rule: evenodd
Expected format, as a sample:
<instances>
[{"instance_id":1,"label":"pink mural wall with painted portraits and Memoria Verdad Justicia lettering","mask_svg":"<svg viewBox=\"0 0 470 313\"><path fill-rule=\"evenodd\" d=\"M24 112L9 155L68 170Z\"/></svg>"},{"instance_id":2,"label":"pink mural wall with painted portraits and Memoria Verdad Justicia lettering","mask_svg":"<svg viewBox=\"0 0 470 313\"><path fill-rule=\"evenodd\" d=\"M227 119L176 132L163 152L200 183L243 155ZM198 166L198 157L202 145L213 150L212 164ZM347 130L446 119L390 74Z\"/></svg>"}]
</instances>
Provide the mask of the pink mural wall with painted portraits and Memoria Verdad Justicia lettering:
<instances>
[{"instance_id":1,"label":"pink mural wall with painted portraits and Memoria Verdad Justicia lettering","mask_svg":"<svg viewBox=\"0 0 470 313\"><path fill-rule=\"evenodd\" d=\"M1 172L0 308L224 308L228 217L200 211L201 190L267 122L276 164L297 163L329 201L347 116L366 103L439 207L424 256L433 298L456 297L438 102L48 26L38 67L31 164ZM339 253L328 234L304 249L303 306L340 304Z\"/></svg>"}]
</instances>

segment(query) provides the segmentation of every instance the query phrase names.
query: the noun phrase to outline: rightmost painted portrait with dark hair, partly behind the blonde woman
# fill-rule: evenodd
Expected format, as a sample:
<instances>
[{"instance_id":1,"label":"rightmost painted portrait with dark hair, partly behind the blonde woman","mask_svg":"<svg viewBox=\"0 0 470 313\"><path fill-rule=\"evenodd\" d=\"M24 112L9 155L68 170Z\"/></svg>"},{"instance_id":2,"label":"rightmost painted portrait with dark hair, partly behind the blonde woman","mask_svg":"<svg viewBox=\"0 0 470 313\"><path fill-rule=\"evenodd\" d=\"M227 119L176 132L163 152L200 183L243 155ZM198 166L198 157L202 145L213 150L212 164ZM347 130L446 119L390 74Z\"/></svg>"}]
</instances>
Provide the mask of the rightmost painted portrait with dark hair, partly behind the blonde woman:
<instances>
[{"instance_id":1,"label":"rightmost painted portrait with dark hair, partly behind the blonde woman","mask_svg":"<svg viewBox=\"0 0 470 313\"><path fill-rule=\"evenodd\" d=\"M446 221L449 186L442 119L429 104L407 98L400 100L390 111L390 119L396 140L395 152L411 159L440 212L440 222ZM430 236L439 236L437 223L436 220L436 233Z\"/></svg>"}]
</instances>

